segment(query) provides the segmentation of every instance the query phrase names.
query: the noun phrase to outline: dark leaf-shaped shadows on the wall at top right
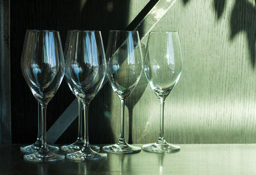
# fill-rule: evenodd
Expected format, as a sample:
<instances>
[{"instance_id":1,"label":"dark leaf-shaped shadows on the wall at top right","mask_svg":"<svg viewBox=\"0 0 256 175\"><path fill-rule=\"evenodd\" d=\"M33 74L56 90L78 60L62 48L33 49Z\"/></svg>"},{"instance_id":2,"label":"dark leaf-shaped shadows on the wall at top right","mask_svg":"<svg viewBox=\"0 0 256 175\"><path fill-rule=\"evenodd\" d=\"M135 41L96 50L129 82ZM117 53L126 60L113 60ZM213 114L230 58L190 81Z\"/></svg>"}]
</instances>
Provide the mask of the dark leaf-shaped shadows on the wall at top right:
<instances>
[{"instance_id":1,"label":"dark leaf-shaped shadows on the wall at top right","mask_svg":"<svg viewBox=\"0 0 256 175\"><path fill-rule=\"evenodd\" d=\"M187 4L191 0L183 0ZM223 15L227 0L213 0L214 10L218 20ZM255 0L256 4L256 0ZM250 61L255 68L255 43L256 43L256 6L248 0L236 0L230 17L230 40L241 31L244 31L247 36L248 49L250 51Z\"/></svg>"}]
</instances>

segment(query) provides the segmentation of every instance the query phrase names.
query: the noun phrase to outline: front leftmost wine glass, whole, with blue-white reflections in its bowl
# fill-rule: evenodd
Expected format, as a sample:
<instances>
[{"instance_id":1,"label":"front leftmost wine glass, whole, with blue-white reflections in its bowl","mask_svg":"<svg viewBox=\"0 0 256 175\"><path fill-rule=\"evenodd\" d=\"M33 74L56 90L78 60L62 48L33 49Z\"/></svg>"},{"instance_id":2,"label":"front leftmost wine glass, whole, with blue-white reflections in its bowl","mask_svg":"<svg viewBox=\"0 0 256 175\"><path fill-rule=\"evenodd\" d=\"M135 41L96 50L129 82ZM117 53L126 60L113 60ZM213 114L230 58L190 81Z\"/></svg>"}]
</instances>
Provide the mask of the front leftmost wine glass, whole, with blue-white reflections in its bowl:
<instances>
[{"instance_id":1,"label":"front leftmost wine glass, whole, with blue-white reflections in its bowl","mask_svg":"<svg viewBox=\"0 0 256 175\"><path fill-rule=\"evenodd\" d=\"M46 143L47 104L58 90L64 75L64 59L58 31L26 32L21 57L21 70L29 88L41 105L41 148L24 159L31 162L63 160L64 155L51 152Z\"/></svg>"}]
</instances>

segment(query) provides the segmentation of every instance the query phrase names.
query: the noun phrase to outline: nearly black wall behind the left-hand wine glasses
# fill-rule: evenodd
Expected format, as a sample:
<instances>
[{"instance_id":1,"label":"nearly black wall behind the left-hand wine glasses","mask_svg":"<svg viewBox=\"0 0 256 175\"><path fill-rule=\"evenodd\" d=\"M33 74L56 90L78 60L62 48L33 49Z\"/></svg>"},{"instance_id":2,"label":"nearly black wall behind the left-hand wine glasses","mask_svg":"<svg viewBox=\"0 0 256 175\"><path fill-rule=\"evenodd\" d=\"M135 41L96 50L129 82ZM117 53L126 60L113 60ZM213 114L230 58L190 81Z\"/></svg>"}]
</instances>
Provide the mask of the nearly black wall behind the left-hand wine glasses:
<instances>
[{"instance_id":1,"label":"nearly black wall behind the left-hand wine glasses","mask_svg":"<svg viewBox=\"0 0 256 175\"><path fill-rule=\"evenodd\" d=\"M37 134L37 103L20 71L20 56L26 29L60 31L63 47L68 29L100 30L106 46L109 29L125 29L127 27L128 6L129 1L118 0L11 1L13 143L34 142ZM102 100L102 98L108 99L108 93L105 93L108 91L109 85L106 84L90 105L91 142L113 142L111 128L104 121L104 112L108 111L109 105L108 100ZM74 95L63 80L60 89L47 107L47 128L56 121L74 99ZM104 103L100 103L101 101ZM99 122L99 120L101 121ZM93 137L93 135L100 135L100 137ZM63 133L58 142L72 142L76 136L77 121Z\"/></svg>"}]
</instances>

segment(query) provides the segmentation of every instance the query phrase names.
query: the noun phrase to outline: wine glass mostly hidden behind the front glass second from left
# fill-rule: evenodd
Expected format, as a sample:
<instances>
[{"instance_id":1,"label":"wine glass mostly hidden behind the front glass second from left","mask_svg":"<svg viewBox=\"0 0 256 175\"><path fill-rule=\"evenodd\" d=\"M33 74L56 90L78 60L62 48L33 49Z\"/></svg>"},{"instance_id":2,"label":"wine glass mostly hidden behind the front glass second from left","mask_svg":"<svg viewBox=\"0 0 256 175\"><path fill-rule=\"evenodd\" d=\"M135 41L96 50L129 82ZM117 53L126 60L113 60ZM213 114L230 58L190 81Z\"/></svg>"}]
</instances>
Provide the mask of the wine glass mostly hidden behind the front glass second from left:
<instances>
[{"instance_id":1,"label":"wine glass mostly hidden behind the front glass second from left","mask_svg":"<svg viewBox=\"0 0 256 175\"><path fill-rule=\"evenodd\" d=\"M64 48L64 51L63 51L64 59L67 59L67 50L68 50L68 45L69 45L69 42L70 42L70 36L71 36L72 31L73 30L69 30L68 34L67 34L65 48ZM76 30L74 30L74 31L76 31ZM68 79L66 75L65 75L64 78L65 78L65 80L68 84L68 88L76 96L75 91L78 92L79 89L76 88L76 86L72 82L72 80ZM82 117L83 116L83 103L78 98L77 98L77 102L78 102L78 135L77 135L77 140L76 140L76 142L74 142L72 144L65 144L65 145L61 146L61 150L65 151L65 152L68 152L68 153L74 153L76 151L79 151L84 146L84 139L83 139L84 127L83 127L83 117ZM96 146L96 145L90 145L90 146L94 151L99 151L100 150L99 146Z\"/></svg>"}]
</instances>

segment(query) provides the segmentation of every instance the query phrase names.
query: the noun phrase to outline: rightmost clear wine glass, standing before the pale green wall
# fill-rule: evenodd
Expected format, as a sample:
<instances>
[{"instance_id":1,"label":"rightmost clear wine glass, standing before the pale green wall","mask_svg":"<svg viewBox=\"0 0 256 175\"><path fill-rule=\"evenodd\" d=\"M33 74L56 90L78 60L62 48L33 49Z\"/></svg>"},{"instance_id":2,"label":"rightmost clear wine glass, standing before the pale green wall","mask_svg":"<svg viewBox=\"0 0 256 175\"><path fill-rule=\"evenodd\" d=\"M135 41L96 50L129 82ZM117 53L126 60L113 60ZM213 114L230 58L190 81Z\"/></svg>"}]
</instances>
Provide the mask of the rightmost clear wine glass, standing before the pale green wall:
<instances>
[{"instance_id":1,"label":"rightmost clear wine glass, standing before the pale green wall","mask_svg":"<svg viewBox=\"0 0 256 175\"><path fill-rule=\"evenodd\" d=\"M177 84L181 70L182 56L178 32L150 32L144 59L144 72L160 101L160 130L156 143L142 146L145 151L168 153L180 150L180 146L168 144L164 139L164 100Z\"/></svg>"}]
</instances>

